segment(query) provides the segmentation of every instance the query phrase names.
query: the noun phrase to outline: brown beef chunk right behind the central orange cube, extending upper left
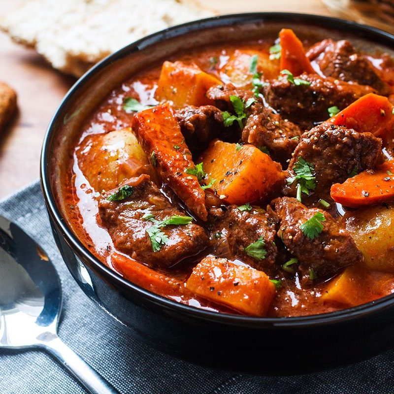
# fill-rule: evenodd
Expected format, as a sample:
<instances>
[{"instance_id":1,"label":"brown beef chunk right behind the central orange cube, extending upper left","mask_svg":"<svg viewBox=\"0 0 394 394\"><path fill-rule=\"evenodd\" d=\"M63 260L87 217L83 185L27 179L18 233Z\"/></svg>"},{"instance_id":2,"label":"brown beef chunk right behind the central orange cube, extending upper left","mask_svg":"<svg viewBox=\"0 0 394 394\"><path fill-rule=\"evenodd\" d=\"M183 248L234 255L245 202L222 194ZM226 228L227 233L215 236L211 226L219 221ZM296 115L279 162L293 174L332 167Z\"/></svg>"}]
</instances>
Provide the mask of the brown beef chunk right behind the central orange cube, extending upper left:
<instances>
[{"instance_id":1,"label":"brown beef chunk right behind the central orange cube, extending upper left","mask_svg":"<svg viewBox=\"0 0 394 394\"><path fill-rule=\"evenodd\" d=\"M238 96L244 101L255 98L252 92L235 89L232 85L213 87L207 95L220 108L230 112L233 112L230 96ZM301 129L294 123L283 120L272 108L263 105L260 99L256 99L245 109L245 113L248 118L242 131L242 141L259 149L266 148L273 160L286 167L287 160L291 158L298 143L295 137L301 135Z\"/></svg>"}]
</instances>

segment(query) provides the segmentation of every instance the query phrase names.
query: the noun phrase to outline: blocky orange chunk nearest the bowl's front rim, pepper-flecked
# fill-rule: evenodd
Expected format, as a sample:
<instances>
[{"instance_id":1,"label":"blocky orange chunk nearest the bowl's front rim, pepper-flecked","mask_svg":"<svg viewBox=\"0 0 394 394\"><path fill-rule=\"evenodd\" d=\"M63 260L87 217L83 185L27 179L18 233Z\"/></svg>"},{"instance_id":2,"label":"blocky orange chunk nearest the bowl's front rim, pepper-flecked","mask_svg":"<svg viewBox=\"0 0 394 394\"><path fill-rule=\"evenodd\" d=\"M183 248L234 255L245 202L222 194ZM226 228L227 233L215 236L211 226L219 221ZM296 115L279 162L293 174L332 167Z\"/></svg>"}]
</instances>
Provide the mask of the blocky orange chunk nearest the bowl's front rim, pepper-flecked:
<instances>
[{"instance_id":1,"label":"blocky orange chunk nearest the bowl's front rim, pepper-flecked","mask_svg":"<svg viewBox=\"0 0 394 394\"><path fill-rule=\"evenodd\" d=\"M198 296L252 316L265 316L276 292L263 271L212 256L196 265L186 287Z\"/></svg>"}]
</instances>

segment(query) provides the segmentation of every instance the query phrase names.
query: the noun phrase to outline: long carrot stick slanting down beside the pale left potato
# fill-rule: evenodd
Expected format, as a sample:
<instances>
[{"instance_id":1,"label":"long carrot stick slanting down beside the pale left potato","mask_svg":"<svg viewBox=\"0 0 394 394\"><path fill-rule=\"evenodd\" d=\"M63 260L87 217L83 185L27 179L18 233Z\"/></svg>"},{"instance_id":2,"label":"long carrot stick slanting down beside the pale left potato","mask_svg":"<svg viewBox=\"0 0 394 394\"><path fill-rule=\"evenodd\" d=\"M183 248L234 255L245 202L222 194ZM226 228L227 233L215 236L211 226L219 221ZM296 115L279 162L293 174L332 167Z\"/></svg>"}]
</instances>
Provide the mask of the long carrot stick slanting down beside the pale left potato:
<instances>
[{"instance_id":1,"label":"long carrot stick slanting down beside the pale left potato","mask_svg":"<svg viewBox=\"0 0 394 394\"><path fill-rule=\"evenodd\" d=\"M132 119L132 129L161 179L191 211L206 220L205 193L197 176L186 172L193 171L195 164L173 109L169 105L156 105L138 112Z\"/></svg>"}]
</instances>

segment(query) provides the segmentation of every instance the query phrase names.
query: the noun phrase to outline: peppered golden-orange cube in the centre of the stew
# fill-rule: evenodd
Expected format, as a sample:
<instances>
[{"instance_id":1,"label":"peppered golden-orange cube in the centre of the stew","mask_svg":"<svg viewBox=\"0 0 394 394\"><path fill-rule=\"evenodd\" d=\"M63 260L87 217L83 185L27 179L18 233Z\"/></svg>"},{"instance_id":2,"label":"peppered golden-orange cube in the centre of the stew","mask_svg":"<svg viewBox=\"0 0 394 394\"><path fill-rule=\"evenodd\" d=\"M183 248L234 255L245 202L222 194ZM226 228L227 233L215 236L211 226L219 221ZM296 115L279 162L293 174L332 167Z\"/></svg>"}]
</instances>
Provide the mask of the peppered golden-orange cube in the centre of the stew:
<instances>
[{"instance_id":1,"label":"peppered golden-orange cube in the centre of the stew","mask_svg":"<svg viewBox=\"0 0 394 394\"><path fill-rule=\"evenodd\" d=\"M285 177L281 165L253 145L215 140L198 161L207 173L206 184L229 204L267 199Z\"/></svg>"}]
</instances>

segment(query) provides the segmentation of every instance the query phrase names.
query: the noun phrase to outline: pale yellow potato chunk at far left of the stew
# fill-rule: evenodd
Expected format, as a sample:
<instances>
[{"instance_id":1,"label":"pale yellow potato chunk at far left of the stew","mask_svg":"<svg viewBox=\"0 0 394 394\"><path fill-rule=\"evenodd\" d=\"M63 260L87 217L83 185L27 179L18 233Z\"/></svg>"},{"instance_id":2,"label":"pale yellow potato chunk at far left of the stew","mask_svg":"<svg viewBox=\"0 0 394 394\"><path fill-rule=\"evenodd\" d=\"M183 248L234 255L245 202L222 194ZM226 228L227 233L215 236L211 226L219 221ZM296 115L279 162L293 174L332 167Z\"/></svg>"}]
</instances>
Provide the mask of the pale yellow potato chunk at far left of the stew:
<instances>
[{"instance_id":1,"label":"pale yellow potato chunk at far left of the stew","mask_svg":"<svg viewBox=\"0 0 394 394\"><path fill-rule=\"evenodd\" d=\"M80 170L97 192L114 189L133 176L157 177L131 128L88 135L76 156Z\"/></svg>"}]
</instances>

